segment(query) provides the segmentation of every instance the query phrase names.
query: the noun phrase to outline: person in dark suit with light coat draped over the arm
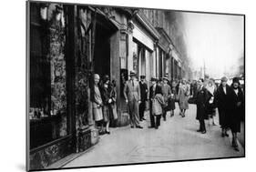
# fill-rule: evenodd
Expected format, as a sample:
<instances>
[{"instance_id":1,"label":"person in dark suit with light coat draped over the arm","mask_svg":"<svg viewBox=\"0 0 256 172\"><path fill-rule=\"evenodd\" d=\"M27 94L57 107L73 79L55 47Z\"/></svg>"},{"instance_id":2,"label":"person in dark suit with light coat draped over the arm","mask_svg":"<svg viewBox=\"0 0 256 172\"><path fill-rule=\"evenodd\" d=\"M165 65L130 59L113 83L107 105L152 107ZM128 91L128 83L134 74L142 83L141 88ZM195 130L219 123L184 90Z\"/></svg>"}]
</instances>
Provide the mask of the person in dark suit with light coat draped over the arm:
<instances>
[{"instance_id":1,"label":"person in dark suit with light coat draped over the arm","mask_svg":"<svg viewBox=\"0 0 256 172\"><path fill-rule=\"evenodd\" d=\"M153 102L152 102L152 115L154 117L156 117L156 125L155 125L155 128L158 129L159 126L160 126L160 118L162 116L162 113L163 113L163 109L162 109L162 106L165 105L165 102L164 102L164 97L162 95L162 91L161 91L161 87L160 86L157 86L156 87L156 91L155 91L155 96L153 97Z\"/></svg>"}]
</instances>

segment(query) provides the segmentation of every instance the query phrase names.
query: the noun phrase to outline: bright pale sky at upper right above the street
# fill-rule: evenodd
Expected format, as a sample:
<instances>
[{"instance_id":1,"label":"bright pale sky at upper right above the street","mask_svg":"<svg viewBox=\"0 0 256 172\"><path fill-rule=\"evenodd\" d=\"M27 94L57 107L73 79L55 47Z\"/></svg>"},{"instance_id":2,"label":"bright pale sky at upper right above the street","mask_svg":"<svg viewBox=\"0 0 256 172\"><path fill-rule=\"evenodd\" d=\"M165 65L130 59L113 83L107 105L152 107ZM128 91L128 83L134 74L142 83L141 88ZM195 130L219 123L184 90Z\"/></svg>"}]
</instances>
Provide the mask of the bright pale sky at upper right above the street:
<instances>
[{"instance_id":1,"label":"bright pale sky at upper right above the street","mask_svg":"<svg viewBox=\"0 0 256 172\"><path fill-rule=\"evenodd\" d=\"M243 56L243 16L183 13L185 43L193 69L203 61L212 77L233 72Z\"/></svg>"}]
</instances>

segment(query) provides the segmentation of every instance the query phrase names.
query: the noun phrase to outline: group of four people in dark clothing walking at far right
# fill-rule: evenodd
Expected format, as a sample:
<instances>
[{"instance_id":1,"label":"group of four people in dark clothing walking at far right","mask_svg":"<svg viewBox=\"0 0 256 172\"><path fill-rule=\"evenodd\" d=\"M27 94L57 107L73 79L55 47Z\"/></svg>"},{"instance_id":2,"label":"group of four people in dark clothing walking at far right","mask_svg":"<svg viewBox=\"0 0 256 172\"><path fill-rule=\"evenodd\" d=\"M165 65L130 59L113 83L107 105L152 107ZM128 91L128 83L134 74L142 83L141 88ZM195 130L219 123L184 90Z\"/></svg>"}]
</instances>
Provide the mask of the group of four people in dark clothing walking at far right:
<instances>
[{"instance_id":1,"label":"group of four people in dark clothing walking at far right","mask_svg":"<svg viewBox=\"0 0 256 172\"><path fill-rule=\"evenodd\" d=\"M238 77L232 79L231 86L227 84L228 78L222 77L220 86L215 86L214 79L205 81L201 78L195 89L195 104L197 105L197 119L200 128L197 130L206 133L205 119L212 119L216 126L214 116L216 108L219 112L221 137L229 137L227 131L232 133L231 146L239 151L237 133L241 132L241 120L244 116L244 94Z\"/></svg>"}]
</instances>

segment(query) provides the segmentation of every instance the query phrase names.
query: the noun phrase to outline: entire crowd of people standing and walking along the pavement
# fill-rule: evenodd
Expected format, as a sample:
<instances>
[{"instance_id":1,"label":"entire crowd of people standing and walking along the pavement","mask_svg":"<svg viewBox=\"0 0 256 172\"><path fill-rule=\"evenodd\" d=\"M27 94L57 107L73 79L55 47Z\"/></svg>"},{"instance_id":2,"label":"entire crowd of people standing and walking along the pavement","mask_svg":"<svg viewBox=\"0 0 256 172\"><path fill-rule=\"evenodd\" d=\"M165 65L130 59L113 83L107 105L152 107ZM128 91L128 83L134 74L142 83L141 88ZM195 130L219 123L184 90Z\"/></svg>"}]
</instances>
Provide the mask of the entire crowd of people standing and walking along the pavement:
<instances>
[{"instance_id":1,"label":"entire crowd of people standing and walking along the pavement","mask_svg":"<svg viewBox=\"0 0 256 172\"><path fill-rule=\"evenodd\" d=\"M186 79L169 80L168 77L150 79L150 86L146 76L130 72L130 79L125 83L123 95L125 97L129 122L131 128L143 127L140 123L146 120L144 113L147 102L149 105L150 126L158 129L167 114L174 116L175 103L179 105L179 116L185 117L189 104L197 106L196 119L200 123L197 132L206 134L205 120L216 126L215 116L219 112L220 137L229 137L227 131L232 133L231 146L239 151L237 133L241 131L241 120L244 119L244 91L240 79L234 77L232 84L227 84L228 78L223 76L221 83L215 83L214 78L200 78L189 81ZM110 134L109 123L115 124L117 114L116 81L110 82L109 76L94 75L94 90L92 92L92 105L94 119L99 128L99 134Z\"/></svg>"}]
</instances>

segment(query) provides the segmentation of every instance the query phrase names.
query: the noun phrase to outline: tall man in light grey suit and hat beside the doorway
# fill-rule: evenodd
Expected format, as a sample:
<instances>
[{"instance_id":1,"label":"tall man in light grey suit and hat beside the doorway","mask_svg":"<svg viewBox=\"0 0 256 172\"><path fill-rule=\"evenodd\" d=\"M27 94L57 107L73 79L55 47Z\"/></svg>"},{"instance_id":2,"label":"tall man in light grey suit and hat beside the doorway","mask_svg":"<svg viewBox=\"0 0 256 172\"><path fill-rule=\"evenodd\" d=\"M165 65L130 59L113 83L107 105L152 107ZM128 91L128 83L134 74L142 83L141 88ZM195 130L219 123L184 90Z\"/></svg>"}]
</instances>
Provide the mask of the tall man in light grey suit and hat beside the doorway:
<instances>
[{"instance_id":1,"label":"tall man in light grey suit and hat beside the doorway","mask_svg":"<svg viewBox=\"0 0 256 172\"><path fill-rule=\"evenodd\" d=\"M138 104L140 104L140 88L138 81L136 80L136 74L131 71L130 79L126 82L124 87L124 96L128 104L128 113L130 118L130 126L143 128L139 125L138 119Z\"/></svg>"}]
</instances>

